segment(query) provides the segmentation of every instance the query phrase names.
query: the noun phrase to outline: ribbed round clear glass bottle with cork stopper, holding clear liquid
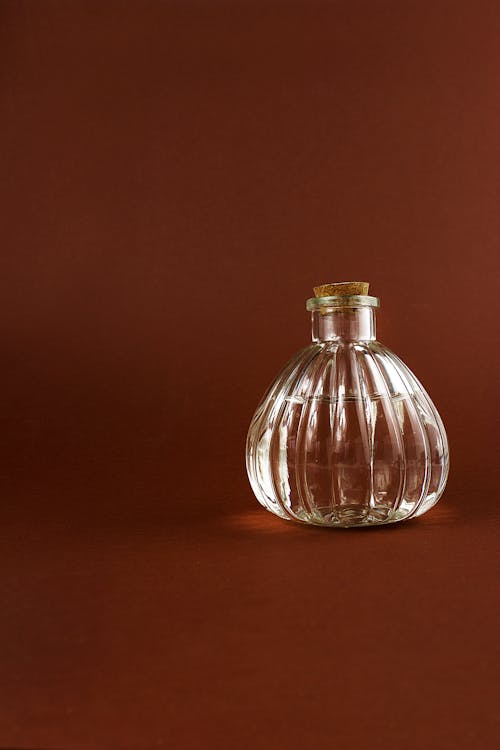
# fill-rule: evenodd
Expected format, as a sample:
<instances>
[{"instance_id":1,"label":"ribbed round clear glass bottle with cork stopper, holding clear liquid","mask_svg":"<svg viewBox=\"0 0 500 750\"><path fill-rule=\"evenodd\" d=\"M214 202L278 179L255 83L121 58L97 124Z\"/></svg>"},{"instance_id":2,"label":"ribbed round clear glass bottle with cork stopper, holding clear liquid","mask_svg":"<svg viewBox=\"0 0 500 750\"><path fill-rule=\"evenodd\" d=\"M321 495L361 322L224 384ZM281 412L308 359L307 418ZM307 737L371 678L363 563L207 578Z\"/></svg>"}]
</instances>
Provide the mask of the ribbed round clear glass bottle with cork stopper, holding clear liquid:
<instances>
[{"instance_id":1,"label":"ribbed round clear glass bottle with cork stopper, holding clear liquid","mask_svg":"<svg viewBox=\"0 0 500 750\"><path fill-rule=\"evenodd\" d=\"M281 518L371 526L426 513L443 493L443 423L408 367L376 340L368 284L315 288L313 343L264 395L247 437L259 502Z\"/></svg>"}]
</instances>

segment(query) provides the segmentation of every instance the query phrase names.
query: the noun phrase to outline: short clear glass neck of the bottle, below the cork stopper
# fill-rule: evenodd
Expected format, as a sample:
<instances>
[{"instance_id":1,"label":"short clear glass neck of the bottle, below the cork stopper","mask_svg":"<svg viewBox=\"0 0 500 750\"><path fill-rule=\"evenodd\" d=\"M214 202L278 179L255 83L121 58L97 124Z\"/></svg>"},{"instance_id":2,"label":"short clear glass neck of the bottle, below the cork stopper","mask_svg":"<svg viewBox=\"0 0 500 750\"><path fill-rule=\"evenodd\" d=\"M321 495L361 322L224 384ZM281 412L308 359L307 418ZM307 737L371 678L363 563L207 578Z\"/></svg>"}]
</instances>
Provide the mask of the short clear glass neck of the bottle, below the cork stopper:
<instances>
[{"instance_id":1,"label":"short clear glass neck of the bottle, below the cork stopper","mask_svg":"<svg viewBox=\"0 0 500 750\"><path fill-rule=\"evenodd\" d=\"M338 307L312 311L313 341L373 341L373 307Z\"/></svg>"}]
</instances>

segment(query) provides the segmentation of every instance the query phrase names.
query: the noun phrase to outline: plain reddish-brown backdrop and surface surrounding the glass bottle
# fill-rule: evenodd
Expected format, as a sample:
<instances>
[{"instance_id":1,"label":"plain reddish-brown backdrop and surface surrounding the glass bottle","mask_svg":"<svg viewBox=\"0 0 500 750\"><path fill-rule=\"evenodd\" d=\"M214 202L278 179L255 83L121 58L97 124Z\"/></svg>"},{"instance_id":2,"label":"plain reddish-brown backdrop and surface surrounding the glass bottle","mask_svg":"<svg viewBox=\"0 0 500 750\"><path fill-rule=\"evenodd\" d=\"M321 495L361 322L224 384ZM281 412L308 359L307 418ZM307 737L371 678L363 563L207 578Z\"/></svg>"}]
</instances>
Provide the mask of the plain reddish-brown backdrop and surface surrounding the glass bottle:
<instances>
[{"instance_id":1,"label":"plain reddish-brown backdrop and surface surrounding the glass bottle","mask_svg":"<svg viewBox=\"0 0 500 750\"><path fill-rule=\"evenodd\" d=\"M494 747L499 4L0 13L0 745ZM451 447L373 532L244 471L351 278Z\"/></svg>"}]
</instances>

